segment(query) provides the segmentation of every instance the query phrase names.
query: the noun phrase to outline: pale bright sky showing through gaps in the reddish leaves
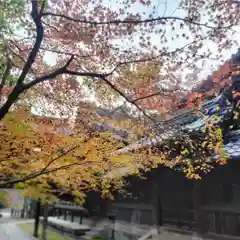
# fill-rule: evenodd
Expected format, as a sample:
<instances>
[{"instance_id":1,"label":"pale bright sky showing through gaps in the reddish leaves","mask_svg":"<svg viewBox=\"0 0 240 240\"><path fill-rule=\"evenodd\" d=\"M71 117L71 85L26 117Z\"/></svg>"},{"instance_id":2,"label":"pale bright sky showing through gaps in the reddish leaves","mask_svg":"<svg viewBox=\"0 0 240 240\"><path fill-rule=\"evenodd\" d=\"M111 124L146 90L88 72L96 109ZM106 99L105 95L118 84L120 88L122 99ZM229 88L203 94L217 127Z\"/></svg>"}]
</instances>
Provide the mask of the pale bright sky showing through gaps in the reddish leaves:
<instances>
[{"instance_id":1,"label":"pale bright sky showing through gaps in the reddish leaves","mask_svg":"<svg viewBox=\"0 0 240 240\"><path fill-rule=\"evenodd\" d=\"M59 0L61 1L61 0ZM78 1L78 0L72 0L72 3L74 3L74 1ZM109 6L112 9L118 9L121 6L121 2L122 0L103 0L103 4L105 4L106 6ZM73 4L74 5L74 4ZM178 16L178 17L183 17L184 16L184 11L179 10L177 7L179 5L179 0L168 0L167 4L165 0L153 0L152 1L152 5L150 7L144 7L143 5L140 5L138 3L136 3L132 9L130 10L132 13L140 13L142 14L142 12L146 12L146 15L148 14L152 14L153 17L157 17L157 16ZM155 8L153 8L153 6L155 6ZM237 33L232 36L232 38L238 40L238 42L240 42L240 27L236 28ZM171 38L171 30L170 29L166 29L169 38ZM21 33L21 31L18 31L18 34ZM22 33L21 33L22 34ZM20 34L20 35L21 35ZM136 37L136 41L132 41L129 40L127 38L123 38L123 39L119 39L115 41L115 44L119 45L120 47L124 48L126 46L134 46L136 47L137 45L137 37ZM159 47L162 47L159 39L159 35L158 34L151 34L151 42L155 43L156 45L159 45ZM180 39L180 40L174 40L174 41L170 41L168 42L168 46L171 49L175 49L176 47L180 47L180 46L184 46L186 44L186 41L184 39ZM213 53L217 53L217 48L216 45L212 42L207 42L203 49L210 47L213 51ZM219 60L212 60L212 59L205 59L204 61L201 61L198 63L199 68L201 69L201 71L198 74L198 79L197 80L204 80L206 79L206 77L208 75L210 75L212 73L213 70L217 69L217 67L222 63L222 60L227 60L231 57L231 54L235 53L237 51L238 46L234 46L232 49L227 49L226 51L223 51L223 58L219 59ZM50 53L50 52L46 52L45 57L44 57L45 61L49 64L49 65L55 65L56 64L56 54ZM189 73L192 72L192 69L188 69L188 68L184 68L183 71L179 72L179 74L182 76L182 82L184 83L186 80L185 76ZM82 83L81 79L79 78L78 81L80 82L80 84ZM186 83L184 83L186 84ZM90 101L95 101L95 96L94 94L89 94L89 91L87 89L87 87L83 87L84 88L84 92L86 93L87 100ZM50 106L49 104L47 104L49 108L53 108L54 106Z\"/></svg>"}]
</instances>

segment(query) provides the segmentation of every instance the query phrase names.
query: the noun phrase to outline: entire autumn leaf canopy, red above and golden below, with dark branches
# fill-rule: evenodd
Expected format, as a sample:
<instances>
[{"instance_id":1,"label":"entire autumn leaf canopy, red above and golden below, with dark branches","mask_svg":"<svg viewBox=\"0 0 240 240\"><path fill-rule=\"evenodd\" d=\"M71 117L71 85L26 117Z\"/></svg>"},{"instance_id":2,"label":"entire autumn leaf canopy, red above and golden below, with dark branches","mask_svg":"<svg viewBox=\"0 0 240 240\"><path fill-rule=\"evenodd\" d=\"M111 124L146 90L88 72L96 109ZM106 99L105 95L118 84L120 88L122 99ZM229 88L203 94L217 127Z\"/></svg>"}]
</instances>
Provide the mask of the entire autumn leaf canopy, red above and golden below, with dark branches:
<instances>
[{"instance_id":1,"label":"entire autumn leaf canopy, red above and golden below, with dark branches","mask_svg":"<svg viewBox=\"0 0 240 240\"><path fill-rule=\"evenodd\" d=\"M157 115L171 114L182 101L179 91L193 97L183 89L180 73L194 72L199 63L221 58L234 45L240 12L236 1L180 0L175 5L170 11L165 3L160 13L157 2L144 0L0 1L5 9L0 15L2 185L24 182L21 187L32 195L38 188L43 195L65 189L81 198L90 187L104 188L107 194L113 185L122 186L118 178L114 184L102 178L117 166L134 163L146 170L168 165L165 150L154 156L148 149L149 159L146 152L113 157L122 141L92 125L101 121L116 126L119 121L99 119L94 107L82 102L88 91L102 106L127 106L131 118L120 121L121 127L136 140L164 127L149 108ZM63 118L73 115L79 122L70 126ZM71 136L58 132L60 127L71 130ZM222 144L213 132L207 144L211 150L212 144L217 149ZM183 145L180 153L187 154L190 149ZM188 171L191 164L185 167L187 175L196 176Z\"/></svg>"}]
</instances>

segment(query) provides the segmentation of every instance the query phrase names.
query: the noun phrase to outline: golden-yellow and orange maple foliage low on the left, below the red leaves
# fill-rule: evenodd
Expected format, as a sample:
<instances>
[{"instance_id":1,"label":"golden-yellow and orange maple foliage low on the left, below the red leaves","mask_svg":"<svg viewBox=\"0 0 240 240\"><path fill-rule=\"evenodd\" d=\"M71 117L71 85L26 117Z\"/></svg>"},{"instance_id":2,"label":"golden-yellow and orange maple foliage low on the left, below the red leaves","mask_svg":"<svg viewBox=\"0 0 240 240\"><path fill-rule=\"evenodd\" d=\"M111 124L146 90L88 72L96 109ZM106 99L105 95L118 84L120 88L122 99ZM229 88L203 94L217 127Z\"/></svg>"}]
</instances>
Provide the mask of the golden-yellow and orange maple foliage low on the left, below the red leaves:
<instances>
[{"instance_id":1,"label":"golden-yellow and orange maple foliage low on the left, below the red leaves","mask_svg":"<svg viewBox=\"0 0 240 240\"><path fill-rule=\"evenodd\" d=\"M65 132L63 126L66 127ZM119 188L102 177L131 159L111 157L122 143L104 132L87 132L87 126L71 128L59 119L18 111L1 123L0 184L17 184L32 198L51 198L72 192L83 200L89 189ZM68 134L67 134L68 132Z\"/></svg>"}]
</instances>

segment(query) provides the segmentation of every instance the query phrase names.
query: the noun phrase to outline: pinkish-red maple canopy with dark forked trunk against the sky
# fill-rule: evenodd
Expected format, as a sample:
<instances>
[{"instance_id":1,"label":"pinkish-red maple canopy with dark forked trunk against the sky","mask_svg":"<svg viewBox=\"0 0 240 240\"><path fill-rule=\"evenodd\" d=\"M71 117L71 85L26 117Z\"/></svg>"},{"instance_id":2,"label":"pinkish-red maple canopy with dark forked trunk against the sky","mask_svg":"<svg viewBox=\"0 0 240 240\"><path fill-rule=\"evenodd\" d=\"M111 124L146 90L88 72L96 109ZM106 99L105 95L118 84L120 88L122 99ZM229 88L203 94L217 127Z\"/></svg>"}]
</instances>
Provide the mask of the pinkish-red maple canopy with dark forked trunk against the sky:
<instances>
[{"instance_id":1,"label":"pinkish-red maple canopy with dark forked trunk against the sky","mask_svg":"<svg viewBox=\"0 0 240 240\"><path fill-rule=\"evenodd\" d=\"M8 5L13 4L15 1ZM137 7L139 11L132 10ZM180 10L162 14L151 1L123 2L119 8L102 1L31 1L21 11L22 38L14 36L16 31L2 34L2 47L8 49L4 51L13 63L10 72L5 65L5 73L16 81L11 83L0 117L23 93L33 89L48 97L75 96L77 77L97 84L97 92L120 95L142 111L139 102L128 96L135 87L131 82L136 80L127 84L122 79L126 66L158 65L148 72L152 77L139 75L141 85L151 85L157 81L156 74L161 79L174 77L177 70L194 68L197 61L221 55L222 49L234 43L230 36L238 25L236 2L180 1L178 7ZM7 8L6 15L12 17L11 11ZM213 42L217 53L204 45Z\"/></svg>"}]
</instances>

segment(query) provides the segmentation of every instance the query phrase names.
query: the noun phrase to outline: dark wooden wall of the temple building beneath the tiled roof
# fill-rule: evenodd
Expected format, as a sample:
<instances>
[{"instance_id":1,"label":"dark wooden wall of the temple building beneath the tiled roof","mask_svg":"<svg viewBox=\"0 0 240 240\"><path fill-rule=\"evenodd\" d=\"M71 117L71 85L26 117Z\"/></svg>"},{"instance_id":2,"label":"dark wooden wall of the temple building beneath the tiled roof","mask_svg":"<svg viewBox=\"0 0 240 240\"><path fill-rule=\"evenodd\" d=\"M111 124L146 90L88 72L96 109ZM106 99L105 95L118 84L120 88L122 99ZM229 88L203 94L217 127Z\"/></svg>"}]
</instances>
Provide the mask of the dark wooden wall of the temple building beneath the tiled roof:
<instances>
[{"instance_id":1,"label":"dark wooden wall of the temple building beneath the tiled roof","mask_svg":"<svg viewBox=\"0 0 240 240\"><path fill-rule=\"evenodd\" d=\"M240 235L240 161L217 167L202 180L161 168L145 180L131 177L129 181L132 197L119 195L109 205L119 220Z\"/></svg>"}]
</instances>

